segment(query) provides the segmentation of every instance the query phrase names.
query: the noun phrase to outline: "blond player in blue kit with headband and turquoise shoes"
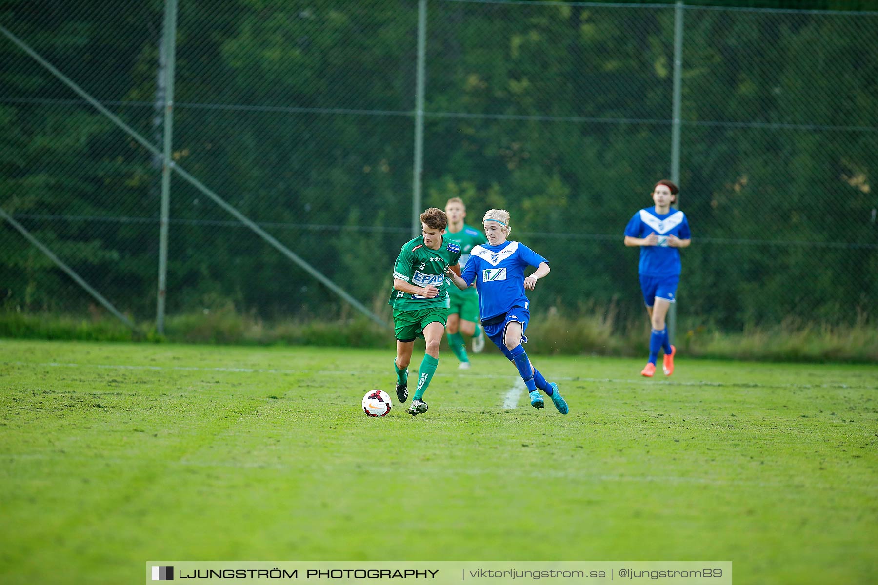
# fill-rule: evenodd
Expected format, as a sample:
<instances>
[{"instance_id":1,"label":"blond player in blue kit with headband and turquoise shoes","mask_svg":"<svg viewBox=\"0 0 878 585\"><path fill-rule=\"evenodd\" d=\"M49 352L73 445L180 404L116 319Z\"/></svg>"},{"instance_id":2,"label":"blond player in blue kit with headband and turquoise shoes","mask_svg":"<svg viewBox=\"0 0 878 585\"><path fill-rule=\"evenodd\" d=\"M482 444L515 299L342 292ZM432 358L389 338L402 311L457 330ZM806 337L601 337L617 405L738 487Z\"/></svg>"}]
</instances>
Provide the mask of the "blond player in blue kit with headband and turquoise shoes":
<instances>
[{"instance_id":1,"label":"blond player in blue kit with headband and turquoise shoes","mask_svg":"<svg viewBox=\"0 0 878 585\"><path fill-rule=\"evenodd\" d=\"M524 332L530 318L530 302L524 291L533 290L536 281L549 274L549 260L524 244L507 241L512 231L507 210L488 210L482 224L488 243L470 250L470 259L460 276L450 269L445 274L461 290L475 281L482 327L522 375L531 406L543 408L543 396L537 390L540 389L551 397L558 412L567 414L567 403L558 391L558 384L546 382L530 363L522 346L528 341ZM525 278L524 268L529 266L535 267L536 271Z\"/></svg>"}]
</instances>

